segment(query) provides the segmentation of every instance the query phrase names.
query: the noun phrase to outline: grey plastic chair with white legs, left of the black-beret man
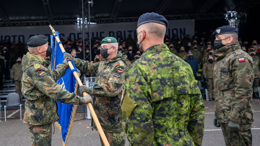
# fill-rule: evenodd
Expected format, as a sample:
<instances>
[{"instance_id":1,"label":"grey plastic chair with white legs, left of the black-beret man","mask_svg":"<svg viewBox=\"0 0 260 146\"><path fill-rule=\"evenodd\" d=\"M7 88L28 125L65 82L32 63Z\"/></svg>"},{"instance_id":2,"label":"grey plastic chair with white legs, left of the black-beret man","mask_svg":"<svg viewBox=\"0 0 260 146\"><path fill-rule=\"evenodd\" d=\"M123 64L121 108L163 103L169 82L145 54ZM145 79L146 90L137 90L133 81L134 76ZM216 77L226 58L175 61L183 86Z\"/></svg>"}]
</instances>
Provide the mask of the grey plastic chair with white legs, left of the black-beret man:
<instances>
[{"instance_id":1,"label":"grey plastic chair with white legs, left of the black-beret man","mask_svg":"<svg viewBox=\"0 0 260 146\"><path fill-rule=\"evenodd\" d=\"M22 120L22 104L18 93L10 93L7 95L6 105L4 106L4 118L6 121L6 107L20 106L20 120Z\"/></svg>"}]
</instances>

